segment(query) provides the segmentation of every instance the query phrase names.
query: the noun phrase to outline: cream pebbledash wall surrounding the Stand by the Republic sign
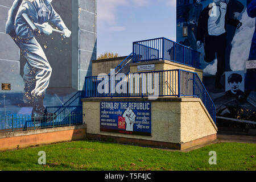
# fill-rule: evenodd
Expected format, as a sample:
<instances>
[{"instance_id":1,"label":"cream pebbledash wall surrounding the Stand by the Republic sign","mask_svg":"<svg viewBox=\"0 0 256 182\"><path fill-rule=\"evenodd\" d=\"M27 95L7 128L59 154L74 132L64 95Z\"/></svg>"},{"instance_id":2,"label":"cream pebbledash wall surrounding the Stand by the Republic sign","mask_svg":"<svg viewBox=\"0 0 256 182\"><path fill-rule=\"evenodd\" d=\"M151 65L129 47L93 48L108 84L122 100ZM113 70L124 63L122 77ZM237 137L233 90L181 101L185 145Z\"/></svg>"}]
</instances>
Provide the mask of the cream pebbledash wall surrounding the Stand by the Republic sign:
<instances>
[{"instance_id":1,"label":"cream pebbledash wall surrounding the Stand by the Republic sign","mask_svg":"<svg viewBox=\"0 0 256 182\"><path fill-rule=\"evenodd\" d=\"M200 98L158 98L151 101L151 137L100 131L101 101L148 101L147 98L84 98L87 138L184 150L216 139L217 127Z\"/></svg>"}]
</instances>

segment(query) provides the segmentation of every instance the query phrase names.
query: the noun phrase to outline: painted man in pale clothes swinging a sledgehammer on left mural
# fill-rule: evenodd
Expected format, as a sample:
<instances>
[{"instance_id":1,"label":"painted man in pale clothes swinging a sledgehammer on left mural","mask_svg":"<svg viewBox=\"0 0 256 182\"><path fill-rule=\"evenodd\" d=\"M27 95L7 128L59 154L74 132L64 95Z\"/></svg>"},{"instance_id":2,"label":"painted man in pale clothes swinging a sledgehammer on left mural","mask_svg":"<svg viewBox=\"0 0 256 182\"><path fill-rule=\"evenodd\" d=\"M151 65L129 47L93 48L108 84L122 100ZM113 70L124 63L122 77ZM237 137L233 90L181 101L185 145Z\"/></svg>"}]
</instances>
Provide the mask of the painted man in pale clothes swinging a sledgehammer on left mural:
<instances>
[{"instance_id":1,"label":"painted man in pale clothes swinging a sledgehammer on left mural","mask_svg":"<svg viewBox=\"0 0 256 182\"><path fill-rule=\"evenodd\" d=\"M71 36L71 31L53 9L51 2L52 0L15 0L6 22L6 33L13 38L20 53L26 58L23 101L32 105L32 118L36 121L42 121L43 117L47 121L55 118L52 113L47 113L43 104L52 68L36 37L52 34L53 27L49 22L62 31L64 38Z\"/></svg>"}]
</instances>

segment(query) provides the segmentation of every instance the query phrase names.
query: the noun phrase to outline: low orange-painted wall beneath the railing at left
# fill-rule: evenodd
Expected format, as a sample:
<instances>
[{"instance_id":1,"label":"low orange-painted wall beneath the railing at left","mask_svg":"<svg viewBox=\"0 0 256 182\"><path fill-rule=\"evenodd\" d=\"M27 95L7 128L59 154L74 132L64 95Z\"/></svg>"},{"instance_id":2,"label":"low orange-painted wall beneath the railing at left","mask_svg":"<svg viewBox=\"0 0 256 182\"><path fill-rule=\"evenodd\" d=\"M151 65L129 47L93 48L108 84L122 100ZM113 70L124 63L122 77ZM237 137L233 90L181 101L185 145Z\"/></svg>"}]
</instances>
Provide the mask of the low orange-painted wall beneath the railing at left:
<instances>
[{"instance_id":1,"label":"low orange-painted wall beneath the railing at left","mask_svg":"<svg viewBox=\"0 0 256 182\"><path fill-rule=\"evenodd\" d=\"M0 151L86 138L86 125L1 134Z\"/></svg>"}]
</instances>

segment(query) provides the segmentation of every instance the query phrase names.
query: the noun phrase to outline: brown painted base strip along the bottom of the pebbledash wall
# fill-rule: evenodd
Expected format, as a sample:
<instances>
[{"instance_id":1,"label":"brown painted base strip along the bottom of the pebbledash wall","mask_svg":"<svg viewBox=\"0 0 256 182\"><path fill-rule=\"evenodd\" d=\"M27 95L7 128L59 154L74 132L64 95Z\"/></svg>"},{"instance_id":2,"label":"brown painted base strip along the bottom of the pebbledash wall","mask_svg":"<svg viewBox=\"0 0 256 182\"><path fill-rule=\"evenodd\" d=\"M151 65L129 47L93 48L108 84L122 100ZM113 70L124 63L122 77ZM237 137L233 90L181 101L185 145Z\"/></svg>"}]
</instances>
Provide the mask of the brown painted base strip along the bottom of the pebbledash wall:
<instances>
[{"instance_id":1,"label":"brown painted base strip along the bottom of the pebbledash wall","mask_svg":"<svg viewBox=\"0 0 256 182\"><path fill-rule=\"evenodd\" d=\"M104 141L114 140L115 142L118 142L118 143L136 144L138 146L170 148L175 150L187 150L188 148L192 148L192 147L195 147L201 144L206 144L216 140L217 134L209 135L207 137L196 139L187 143L157 142L153 140L113 137L113 136L99 135L99 134L86 134L86 138L93 139L93 140L104 140Z\"/></svg>"}]
</instances>

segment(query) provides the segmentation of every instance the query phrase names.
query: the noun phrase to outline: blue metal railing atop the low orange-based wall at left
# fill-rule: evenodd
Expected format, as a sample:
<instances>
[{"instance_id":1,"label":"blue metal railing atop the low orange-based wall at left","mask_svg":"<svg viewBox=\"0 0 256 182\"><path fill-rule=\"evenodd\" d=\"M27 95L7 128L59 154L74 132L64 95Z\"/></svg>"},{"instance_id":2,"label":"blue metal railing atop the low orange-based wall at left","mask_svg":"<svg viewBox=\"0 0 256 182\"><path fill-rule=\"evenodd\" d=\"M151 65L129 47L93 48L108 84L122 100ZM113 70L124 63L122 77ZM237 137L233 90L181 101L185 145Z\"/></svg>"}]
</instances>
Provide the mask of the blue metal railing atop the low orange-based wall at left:
<instances>
[{"instance_id":1,"label":"blue metal railing atop the low orange-based wall at left","mask_svg":"<svg viewBox=\"0 0 256 182\"><path fill-rule=\"evenodd\" d=\"M32 115L9 114L0 115L0 133L24 130L38 130L49 127L82 125L82 102L84 92L79 91L62 106L46 107L49 113L54 113L53 121L46 115L35 120Z\"/></svg>"}]
</instances>

